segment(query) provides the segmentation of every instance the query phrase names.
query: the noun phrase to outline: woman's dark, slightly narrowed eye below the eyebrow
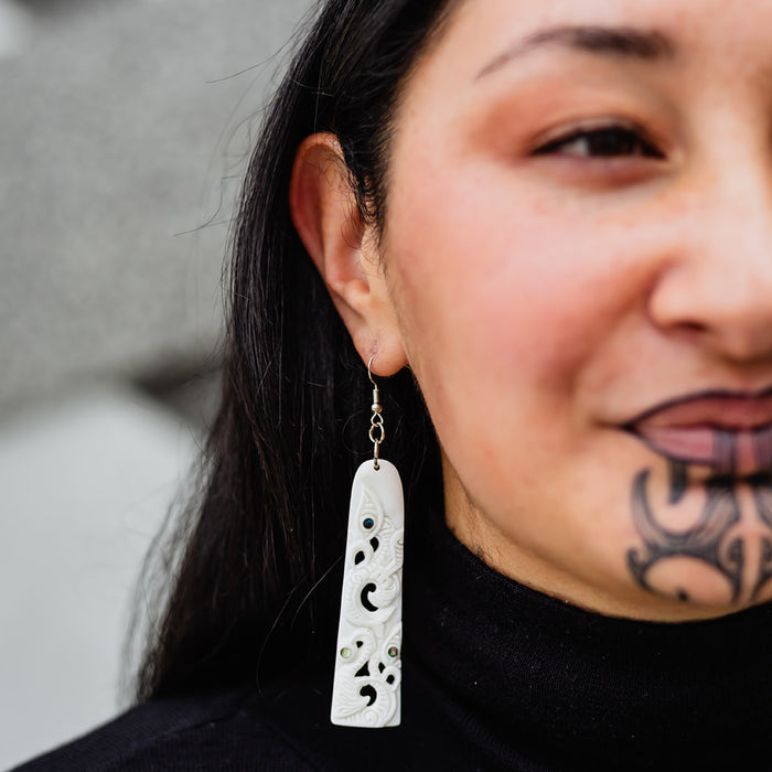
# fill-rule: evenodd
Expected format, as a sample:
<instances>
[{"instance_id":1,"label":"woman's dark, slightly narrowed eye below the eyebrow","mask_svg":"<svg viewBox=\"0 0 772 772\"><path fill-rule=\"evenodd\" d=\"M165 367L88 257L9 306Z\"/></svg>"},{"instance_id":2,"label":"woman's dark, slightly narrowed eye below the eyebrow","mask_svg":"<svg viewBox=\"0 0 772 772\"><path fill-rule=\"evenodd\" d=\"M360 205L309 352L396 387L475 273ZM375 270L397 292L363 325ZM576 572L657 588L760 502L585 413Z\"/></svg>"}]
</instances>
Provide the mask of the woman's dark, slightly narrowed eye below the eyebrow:
<instances>
[{"instance_id":1,"label":"woman's dark, slightly narrowed eye below the eyebrow","mask_svg":"<svg viewBox=\"0 0 772 772\"><path fill-rule=\"evenodd\" d=\"M664 158L640 129L622 125L572 129L543 142L536 148L534 154L588 159Z\"/></svg>"}]
</instances>

